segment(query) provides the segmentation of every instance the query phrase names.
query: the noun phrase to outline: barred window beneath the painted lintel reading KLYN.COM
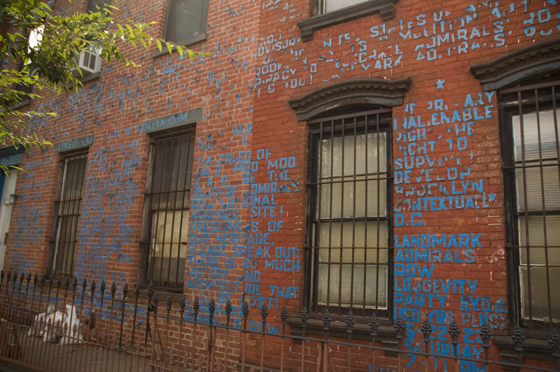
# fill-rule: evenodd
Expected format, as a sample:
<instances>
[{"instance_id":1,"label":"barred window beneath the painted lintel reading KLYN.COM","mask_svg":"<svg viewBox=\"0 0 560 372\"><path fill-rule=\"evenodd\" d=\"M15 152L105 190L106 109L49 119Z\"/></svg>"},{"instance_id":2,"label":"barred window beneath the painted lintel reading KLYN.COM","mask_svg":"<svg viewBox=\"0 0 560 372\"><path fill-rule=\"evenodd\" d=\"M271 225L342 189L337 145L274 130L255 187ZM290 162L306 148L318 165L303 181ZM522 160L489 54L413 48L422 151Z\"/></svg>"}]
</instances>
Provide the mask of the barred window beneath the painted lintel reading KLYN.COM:
<instances>
[{"instance_id":1,"label":"barred window beneath the painted lintel reading KLYN.COM","mask_svg":"<svg viewBox=\"0 0 560 372\"><path fill-rule=\"evenodd\" d=\"M147 280L157 287L183 288L188 242L194 134L153 138L148 205Z\"/></svg>"}]
</instances>

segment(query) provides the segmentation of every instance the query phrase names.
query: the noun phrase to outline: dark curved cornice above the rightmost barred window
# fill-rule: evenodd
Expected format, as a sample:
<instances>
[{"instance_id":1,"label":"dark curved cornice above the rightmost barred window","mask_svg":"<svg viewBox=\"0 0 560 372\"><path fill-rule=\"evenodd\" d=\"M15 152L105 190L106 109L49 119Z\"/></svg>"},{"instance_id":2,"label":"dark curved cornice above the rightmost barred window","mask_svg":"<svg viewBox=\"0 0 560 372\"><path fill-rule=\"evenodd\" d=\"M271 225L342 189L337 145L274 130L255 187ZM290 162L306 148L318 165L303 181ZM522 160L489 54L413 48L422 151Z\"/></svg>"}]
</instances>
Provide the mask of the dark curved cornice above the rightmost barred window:
<instances>
[{"instance_id":1,"label":"dark curved cornice above the rightmost barred window","mask_svg":"<svg viewBox=\"0 0 560 372\"><path fill-rule=\"evenodd\" d=\"M482 90L500 90L520 80L560 71L560 38L514 50L490 62L470 66Z\"/></svg>"}]
</instances>

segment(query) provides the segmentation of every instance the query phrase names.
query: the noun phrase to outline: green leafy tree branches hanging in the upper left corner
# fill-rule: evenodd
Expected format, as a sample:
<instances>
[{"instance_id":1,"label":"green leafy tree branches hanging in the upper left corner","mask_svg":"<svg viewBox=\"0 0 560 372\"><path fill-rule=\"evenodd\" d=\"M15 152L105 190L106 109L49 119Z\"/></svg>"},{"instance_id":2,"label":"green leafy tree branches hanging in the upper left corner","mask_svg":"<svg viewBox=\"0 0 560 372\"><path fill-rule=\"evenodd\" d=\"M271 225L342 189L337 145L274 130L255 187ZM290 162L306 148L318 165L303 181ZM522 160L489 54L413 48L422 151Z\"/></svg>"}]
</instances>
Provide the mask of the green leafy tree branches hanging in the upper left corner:
<instances>
[{"instance_id":1,"label":"green leafy tree branches hanging in the upper left corner","mask_svg":"<svg viewBox=\"0 0 560 372\"><path fill-rule=\"evenodd\" d=\"M153 38L148 31L155 22L116 20L116 12L118 8L107 5L96 11L59 15L42 1L0 0L0 146L43 150L50 145L36 134L25 134L25 123L32 117L56 113L19 110L18 103L39 97L31 93L31 87L35 92L58 94L77 90L83 76L77 59L80 52L94 50L107 62L127 66L137 66L123 52L127 43L147 50L155 42L160 51L165 45L170 53L176 48L191 59L206 55ZM8 171L3 164L0 168Z\"/></svg>"}]
</instances>

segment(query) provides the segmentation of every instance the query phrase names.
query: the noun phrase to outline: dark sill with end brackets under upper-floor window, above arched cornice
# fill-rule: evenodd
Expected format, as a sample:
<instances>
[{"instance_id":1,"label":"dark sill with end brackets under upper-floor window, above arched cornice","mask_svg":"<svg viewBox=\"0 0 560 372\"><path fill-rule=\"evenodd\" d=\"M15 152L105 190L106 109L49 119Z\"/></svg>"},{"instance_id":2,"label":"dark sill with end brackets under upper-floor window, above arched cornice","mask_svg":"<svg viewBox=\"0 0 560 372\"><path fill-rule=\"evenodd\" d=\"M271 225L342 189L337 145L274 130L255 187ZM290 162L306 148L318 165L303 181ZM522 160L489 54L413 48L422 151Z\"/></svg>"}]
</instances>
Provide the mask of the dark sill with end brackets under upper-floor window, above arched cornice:
<instances>
[{"instance_id":1,"label":"dark sill with end brackets under upper-floor window, above arched cornice","mask_svg":"<svg viewBox=\"0 0 560 372\"><path fill-rule=\"evenodd\" d=\"M313 34L318 29L333 26L335 24L356 20L360 17L381 14L381 20L391 20L395 17L395 3L398 0L370 0L359 3L348 8L333 10L332 12L315 15L307 20L297 22L302 33L302 41L313 40Z\"/></svg>"}]
</instances>

